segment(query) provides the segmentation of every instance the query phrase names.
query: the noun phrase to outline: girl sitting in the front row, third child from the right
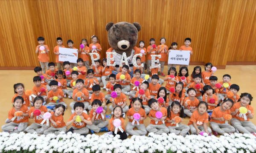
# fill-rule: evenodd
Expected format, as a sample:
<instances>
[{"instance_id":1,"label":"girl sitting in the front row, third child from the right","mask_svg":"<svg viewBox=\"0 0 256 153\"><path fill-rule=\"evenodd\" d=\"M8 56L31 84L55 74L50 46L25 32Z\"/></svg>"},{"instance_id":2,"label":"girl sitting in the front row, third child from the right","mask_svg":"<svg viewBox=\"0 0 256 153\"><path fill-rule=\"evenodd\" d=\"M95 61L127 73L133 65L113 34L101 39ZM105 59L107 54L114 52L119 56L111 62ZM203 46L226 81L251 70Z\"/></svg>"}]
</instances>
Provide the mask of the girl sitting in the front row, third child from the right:
<instances>
[{"instance_id":1,"label":"girl sitting in the front row, third child from the right","mask_svg":"<svg viewBox=\"0 0 256 153\"><path fill-rule=\"evenodd\" d=\"M206 113L208 105L206 102L201 101L198 104L198 110L196 110L190 120L188 126L190 127L191 134L200 134L201 132L205 132L208 135L212 133L212 130L207 127L208 114Z\"/></svg>"}]
</instances>

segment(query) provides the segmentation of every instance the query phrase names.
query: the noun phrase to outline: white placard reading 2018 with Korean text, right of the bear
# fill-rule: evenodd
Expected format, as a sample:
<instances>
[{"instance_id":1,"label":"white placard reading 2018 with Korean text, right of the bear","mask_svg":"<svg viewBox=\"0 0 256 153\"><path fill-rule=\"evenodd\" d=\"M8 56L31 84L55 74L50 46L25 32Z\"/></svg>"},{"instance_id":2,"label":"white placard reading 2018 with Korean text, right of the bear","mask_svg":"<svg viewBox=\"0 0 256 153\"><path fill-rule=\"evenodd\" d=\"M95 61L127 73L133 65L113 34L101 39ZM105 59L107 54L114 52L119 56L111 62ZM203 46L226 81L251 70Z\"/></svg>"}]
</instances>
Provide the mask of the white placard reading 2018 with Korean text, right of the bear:
<instances>
[{"instance_id":1,"label":"white placard reading 2018 with Korean text, right of the bear","mask_svg":"<svg viewBox=\"0 0 256 153\"><path fill-rule=\"evenodd\" d=\"M189 65L190 51L171 50L168 64Z\"/></svg>"}]
</instances>

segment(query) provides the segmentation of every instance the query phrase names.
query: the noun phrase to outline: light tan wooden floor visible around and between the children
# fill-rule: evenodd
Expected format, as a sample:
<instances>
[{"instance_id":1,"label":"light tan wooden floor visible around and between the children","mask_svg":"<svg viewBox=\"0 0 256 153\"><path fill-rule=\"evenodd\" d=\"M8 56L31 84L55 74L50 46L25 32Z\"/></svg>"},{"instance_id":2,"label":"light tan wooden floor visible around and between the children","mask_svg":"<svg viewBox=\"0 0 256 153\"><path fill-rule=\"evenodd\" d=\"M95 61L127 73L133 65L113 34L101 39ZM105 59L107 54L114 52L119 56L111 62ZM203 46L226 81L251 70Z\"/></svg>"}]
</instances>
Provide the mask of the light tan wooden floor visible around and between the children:
<instances>
[{"instance_id":1,"label":"light tan wooden floor visible around and between the children","mask_svg":"<svg viewBox=\"0 0 256 153\"><path fill-rule=\"evenodd\" d=\"M189 74L192 73L193 68L195 66L189 66ZM201 66L202 70L204 66ZM167 66L164 67L164 74L167 74ZM248 92L252 94L254 97L251 106L256 108L256 90L253 85L253 81L256 76L256 66L226 66L226 69L218 69L215 72L215 76L218 77L218 82L222 81L222 76L224 74L231 75L231 83L238 84L240 87L238 95L241 95L243 92ZM33 70L2 70L0 71L0 95L2 97L1 100L1 110L0 110L0 126L5 124L6 118L8 118L8 112L12 108L12 97L14 95L13 85L16 83L23 83L25 89L32 89L35 86L33 82L33 77L36 76L36 73ZM164 77L161 76L163 79ZM166 82L163 86L166 85ZM253 85L253 86L252 86ZM104 94L107 92L102 90ZM128 98L128 96L127 96ZM67 123L67 120L71 116L71 108L69 107L70 103L73 99L64 98L64 102L67 104L67 110L64 112L64 121ZM128 102L129 104L129 102ZM108 104L109 107L110 104ZM89 113L89 111L88 111ZM107 114L111 114L111 111L108 109ZM254 124L256 124L256 118L251 120ZM29 118L29 125L34 122L33 119ZM128 118L125 118L125 125L128 122ZM189 117L183 119L183 124L188 124ZM145 126L150 123L150 118L146 118L144 120ZM209 126L209 124L208 124ZM110 125L108 125L108 128ZM69 128L69 127L68 127ZM0 130L2 132L2 130ZM103 133L99 133L102 135Z\"/></svg>"}]
</instances>

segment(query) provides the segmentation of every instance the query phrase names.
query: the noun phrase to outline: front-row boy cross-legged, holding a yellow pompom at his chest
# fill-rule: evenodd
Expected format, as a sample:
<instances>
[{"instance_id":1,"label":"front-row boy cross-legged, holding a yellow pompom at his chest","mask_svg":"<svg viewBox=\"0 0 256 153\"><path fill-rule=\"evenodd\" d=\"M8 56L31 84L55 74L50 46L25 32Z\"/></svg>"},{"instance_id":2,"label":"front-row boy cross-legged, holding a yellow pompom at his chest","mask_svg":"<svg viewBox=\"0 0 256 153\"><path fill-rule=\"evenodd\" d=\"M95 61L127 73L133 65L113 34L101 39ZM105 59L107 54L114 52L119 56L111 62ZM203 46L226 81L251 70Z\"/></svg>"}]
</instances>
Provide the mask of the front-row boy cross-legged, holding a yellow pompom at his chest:
<instances>
[{"instance_id":1,"label":"front-row boy cross-legged, holding a yellow pompom at his chest","mask_svg":"<svg viewBox=\"0 0 256 153\"><path fill-rule=\"evenodd\" d=\"M72 124L70 129L67 130L66 134L68 132L71 133L79 133L82 136L86 136L87 133L89 133L89 129L86 127L87 125L92 125L91 118L84 113L84 104L81 102L77 102L74 105L75 113L73 113L70 118L67 121L67 127ZM80 122L76 121L76 118L79 116L81 118Z\"/></svg>"}]
</instances>

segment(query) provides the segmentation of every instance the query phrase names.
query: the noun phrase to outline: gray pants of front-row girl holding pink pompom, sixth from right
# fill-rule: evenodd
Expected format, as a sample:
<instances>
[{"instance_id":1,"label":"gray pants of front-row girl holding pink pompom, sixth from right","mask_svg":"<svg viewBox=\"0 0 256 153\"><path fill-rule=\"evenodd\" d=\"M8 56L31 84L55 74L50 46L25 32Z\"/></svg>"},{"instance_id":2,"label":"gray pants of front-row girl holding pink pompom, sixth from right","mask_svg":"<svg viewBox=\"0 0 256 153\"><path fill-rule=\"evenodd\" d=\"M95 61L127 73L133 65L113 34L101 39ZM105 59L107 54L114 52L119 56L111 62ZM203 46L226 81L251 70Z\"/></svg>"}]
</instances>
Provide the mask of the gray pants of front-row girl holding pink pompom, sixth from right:
<instances>
[{"instance_id":1,"label":"gray pants of front-row girl holding pink pompom, sixth from right","mask_svg":"<svg viewBox=\"0 0 256 153\"><path fill-rule=\"evenodd\" d=\"M133 130L134 127L137 127L138 130ZM136 135L136 136L142 136L142 135L146 135L148 133L145 125L144 124L138 125L136 121L135 121L134 125L132 125L131 122L128 121L125 130L127 133L129 133L131 135Z\"/></svg>"}]
</instances>

